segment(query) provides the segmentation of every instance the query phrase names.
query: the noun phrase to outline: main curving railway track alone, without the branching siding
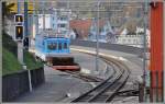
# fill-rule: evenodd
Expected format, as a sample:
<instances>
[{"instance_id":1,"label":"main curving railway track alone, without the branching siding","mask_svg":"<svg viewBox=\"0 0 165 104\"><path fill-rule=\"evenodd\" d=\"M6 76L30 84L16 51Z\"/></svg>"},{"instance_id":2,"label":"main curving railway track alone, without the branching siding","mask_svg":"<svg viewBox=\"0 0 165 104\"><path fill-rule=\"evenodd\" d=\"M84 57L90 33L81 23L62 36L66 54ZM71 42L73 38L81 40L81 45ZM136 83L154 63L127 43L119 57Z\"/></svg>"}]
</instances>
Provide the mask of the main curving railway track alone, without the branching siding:
<instances>
[{"instance_id":1,"label":"main curving railway track alone, without the branching siding","mask_svg":"<svg viewBox=\"0 0 165 104\"><path fill-rule=\"evenodd\" d=\"M84 93L79 97L72 101L73 103L76 102L101 102L107 103L111 102L116 96L117 92L122 89L125 84L130 71L128 67L123 65L119 60L114 60L112 58L108 58L105 56L100 56L107 63L113 63L116 72L110 76L107 80L102 81L96 88L91 89L90 91Z\"/></svg>"}]
</instances>

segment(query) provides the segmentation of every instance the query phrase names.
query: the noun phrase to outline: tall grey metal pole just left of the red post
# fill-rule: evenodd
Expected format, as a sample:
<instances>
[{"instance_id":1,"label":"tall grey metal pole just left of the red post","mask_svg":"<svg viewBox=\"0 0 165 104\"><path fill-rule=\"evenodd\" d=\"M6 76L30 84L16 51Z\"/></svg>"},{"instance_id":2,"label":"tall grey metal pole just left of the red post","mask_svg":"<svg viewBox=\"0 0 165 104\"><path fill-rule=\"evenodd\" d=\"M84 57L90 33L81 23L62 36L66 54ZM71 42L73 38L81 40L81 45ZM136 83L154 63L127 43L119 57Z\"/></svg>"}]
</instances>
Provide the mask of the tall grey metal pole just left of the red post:
<instances>
[{"instance_id":1,"label":"tall grey metal pole just left of the red post","mask_svg":"<svg viewBox=\"0 0 165 104\"><path fill-rule=\"evenodd\" d=\"M143 36L143 82L144 82L144 102L146 102L146 26L147 26L147 0L144 2L144 36Z\"/></svg>"}]
</instances>

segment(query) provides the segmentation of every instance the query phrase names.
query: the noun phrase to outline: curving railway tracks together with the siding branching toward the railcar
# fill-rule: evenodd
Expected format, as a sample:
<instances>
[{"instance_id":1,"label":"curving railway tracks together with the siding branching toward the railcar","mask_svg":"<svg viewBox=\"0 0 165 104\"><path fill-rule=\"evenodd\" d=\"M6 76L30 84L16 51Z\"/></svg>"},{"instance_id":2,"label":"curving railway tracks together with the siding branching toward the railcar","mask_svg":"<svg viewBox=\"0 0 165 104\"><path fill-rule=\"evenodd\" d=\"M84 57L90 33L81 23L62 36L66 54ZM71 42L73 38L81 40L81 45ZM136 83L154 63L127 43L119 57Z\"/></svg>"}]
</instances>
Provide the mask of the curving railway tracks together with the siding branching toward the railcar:
<instances>
[{"instance_id":1,"label":"curving railway tracks together with the siding branching toward the railcar","mask_svg":"<svg viewBox=\"0 0 165 104\"><path fill-rule=\"evenodd\" d=\"M89 53L86 53L89 54ZM89 54L95 56L95 54ZM70 73L75 78L79 78L87 82L100 82L97 86L89 90L88 92L84 93L82 95L78 96L72 103L76 102L99 102L99 103L107 103L111 102L116 95L118 95L118 91L124 86L130 71L129 68L123 65L120 60L114 58L106 57L100 55L100 58L105 60L109 66L113 68L112 74L103 80L98 77L89 76L81 73L80 71L65 71ZM107 67L108 70L110 67Z\"/></svg>"}]
</instances>

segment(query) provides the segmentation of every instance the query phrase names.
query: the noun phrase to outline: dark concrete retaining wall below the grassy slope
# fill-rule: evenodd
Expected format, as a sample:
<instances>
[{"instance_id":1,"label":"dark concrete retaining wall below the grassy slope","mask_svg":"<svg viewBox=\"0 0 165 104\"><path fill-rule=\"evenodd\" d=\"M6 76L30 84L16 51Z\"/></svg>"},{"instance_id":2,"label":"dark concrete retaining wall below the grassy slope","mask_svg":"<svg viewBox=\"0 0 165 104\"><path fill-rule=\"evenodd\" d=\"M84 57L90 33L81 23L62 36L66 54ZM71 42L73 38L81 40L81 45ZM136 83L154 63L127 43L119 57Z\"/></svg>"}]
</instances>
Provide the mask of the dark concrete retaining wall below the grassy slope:
<instances>
[{"instance_id":1,"label":"dark concrete retaining wall below the grassy slope","mask_svg":"<svg viewBox=\"0 0 165 104\"><path fill-rule=\"evenodd\" d=\"M36 88L45 81L44 69L31 70L32 86ZM2 102L10 102L29 92L28 70L2 77Z\"/></svg>"}]
</instances>

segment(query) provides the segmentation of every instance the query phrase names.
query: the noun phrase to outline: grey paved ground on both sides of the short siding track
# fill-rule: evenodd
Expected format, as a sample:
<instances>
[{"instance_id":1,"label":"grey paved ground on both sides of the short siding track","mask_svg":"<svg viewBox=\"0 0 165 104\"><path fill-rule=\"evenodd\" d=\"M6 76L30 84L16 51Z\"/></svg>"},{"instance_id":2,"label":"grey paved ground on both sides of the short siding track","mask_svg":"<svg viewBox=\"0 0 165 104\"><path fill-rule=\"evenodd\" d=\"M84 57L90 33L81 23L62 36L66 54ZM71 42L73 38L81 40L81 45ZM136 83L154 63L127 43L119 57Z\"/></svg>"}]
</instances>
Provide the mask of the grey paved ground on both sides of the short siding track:
<instances>
[{"instance_id":1,"label":"grey paved ground on both sides of the short siding track","mask_svg":"<svg viewBox=\"0 0 165 104\"><path fill-rule=\"evenodd\" d=\"M90 70L89 74L98 76L94 73L94 56L88 56L80 53L73 54L75 55L75 61L78 62L84 70ZM88 65L85 62L88 62ZM106 65L100 62L100 70L105 67ZM45 66L44 69L46 78L45 83L37 89L34 89L32 93L26 93L16 99L14 102L70 102L97 84L85 82L80 79L72 77L69 73L54 70L48 66ZM105 73L100 77L103 77L103 74Z\"/></svg>"}]
</instances>

